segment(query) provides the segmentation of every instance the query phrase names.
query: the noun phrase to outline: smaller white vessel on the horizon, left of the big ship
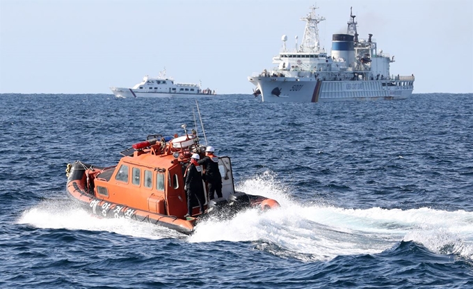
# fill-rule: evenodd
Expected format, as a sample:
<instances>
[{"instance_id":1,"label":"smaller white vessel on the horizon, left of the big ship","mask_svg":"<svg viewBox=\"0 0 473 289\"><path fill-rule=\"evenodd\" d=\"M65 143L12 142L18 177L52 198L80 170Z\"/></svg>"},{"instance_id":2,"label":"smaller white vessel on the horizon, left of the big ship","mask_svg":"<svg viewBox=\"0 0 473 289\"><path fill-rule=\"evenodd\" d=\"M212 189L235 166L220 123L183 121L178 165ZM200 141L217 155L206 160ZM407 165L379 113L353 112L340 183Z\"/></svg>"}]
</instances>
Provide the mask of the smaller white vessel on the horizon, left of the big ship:
<instances>
[{"instance_id":1,"label":"smaller white vessel on the horizon, left of the big ship","mask_svg":"<svg viewBox=\"0 0 473 289\"><path fill-rule=\"evenodd\" d=\"M166 77L166 69L158 77L143 77L133 88L111 87L116 97L200 97L216 95L211 89L200 88L200 84L179 84Z\"/></svg>"}]
</instances>

